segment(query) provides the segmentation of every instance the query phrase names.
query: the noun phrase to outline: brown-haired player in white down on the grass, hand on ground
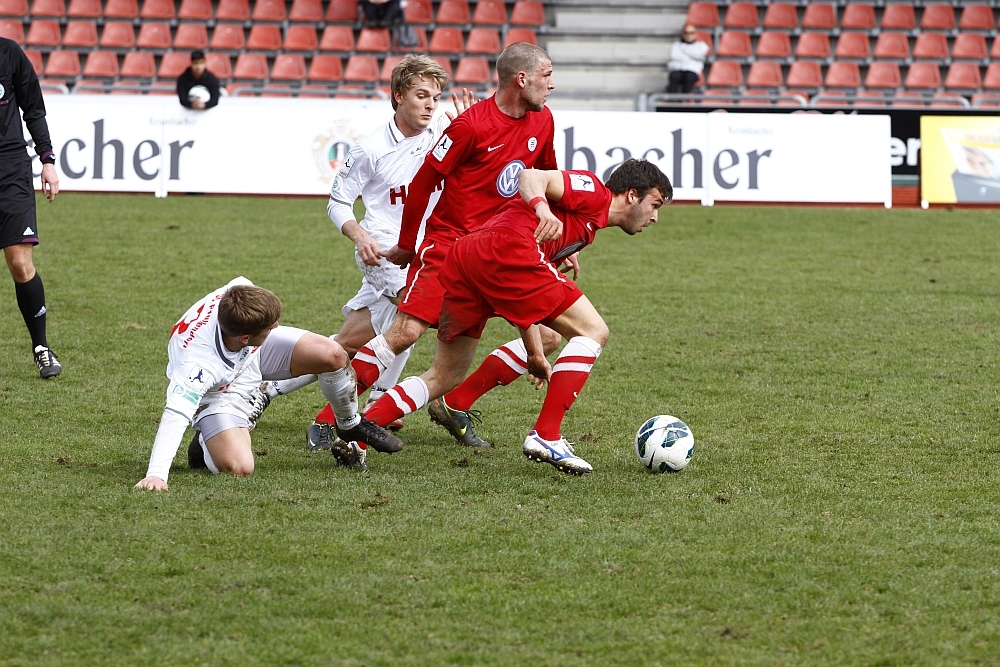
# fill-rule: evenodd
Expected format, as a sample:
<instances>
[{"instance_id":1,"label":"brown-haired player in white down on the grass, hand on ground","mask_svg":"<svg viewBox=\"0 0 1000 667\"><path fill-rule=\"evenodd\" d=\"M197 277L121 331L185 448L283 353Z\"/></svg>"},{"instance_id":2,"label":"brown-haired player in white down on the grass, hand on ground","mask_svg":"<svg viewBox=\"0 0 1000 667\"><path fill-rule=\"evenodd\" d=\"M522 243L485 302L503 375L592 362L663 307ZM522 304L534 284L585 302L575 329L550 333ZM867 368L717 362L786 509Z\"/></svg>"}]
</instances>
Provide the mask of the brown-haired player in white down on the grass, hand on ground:
<instances>
[{"instance_id":1,"label":"brown-haired player in white down on the grass, hand on ground","mask_svg":"<svg viewBox=\"0 0 1000 667\"><path fill-rule=\"evenodd\" d=\"M344 348L304 329L278 326L281 301L236 278L191 306L170 332L167 405L146 477L136 488L167 491L170 464L189 423L188 464L237 477L254 470L252 394L261 381L319 376L347 442L391 448L399 440L358 414L354 373Z\"/></svg>"}]
</instances>

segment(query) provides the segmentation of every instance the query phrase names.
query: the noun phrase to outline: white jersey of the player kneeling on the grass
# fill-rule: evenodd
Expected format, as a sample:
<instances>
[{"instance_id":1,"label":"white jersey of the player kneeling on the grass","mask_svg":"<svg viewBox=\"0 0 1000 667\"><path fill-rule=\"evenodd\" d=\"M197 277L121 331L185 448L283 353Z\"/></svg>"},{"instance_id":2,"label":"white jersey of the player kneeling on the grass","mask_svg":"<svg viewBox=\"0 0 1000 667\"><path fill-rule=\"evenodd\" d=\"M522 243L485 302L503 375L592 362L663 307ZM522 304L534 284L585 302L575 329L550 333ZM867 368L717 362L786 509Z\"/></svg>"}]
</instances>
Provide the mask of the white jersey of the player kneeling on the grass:
<instances>
[{"instance_id":1,"label":"white jersey of the player kneeling on the grass","mask_svg":"<svg viewBox=\"0 0 1000 667\"><path fill-rule=\"evenodd\" d=\"M246 413L249 392L261 383L259 347L226 349L219 328L219 301L233 285L252 285L239 277L191 306L174 325L167 345L166 409L191 422L211 405L213 413Z\"/></svg>"}]
</instances>

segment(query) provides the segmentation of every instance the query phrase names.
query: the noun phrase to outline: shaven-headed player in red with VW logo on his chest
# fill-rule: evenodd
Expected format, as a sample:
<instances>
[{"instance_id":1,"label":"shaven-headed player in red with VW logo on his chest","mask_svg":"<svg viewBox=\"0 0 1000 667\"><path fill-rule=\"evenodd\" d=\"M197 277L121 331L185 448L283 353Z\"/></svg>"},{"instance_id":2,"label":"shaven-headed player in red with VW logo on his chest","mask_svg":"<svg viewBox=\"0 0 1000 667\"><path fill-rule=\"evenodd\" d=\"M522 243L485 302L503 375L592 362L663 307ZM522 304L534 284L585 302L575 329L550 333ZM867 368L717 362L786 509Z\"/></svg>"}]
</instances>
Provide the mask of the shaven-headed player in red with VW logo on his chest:
<instances>
[{"instance_id":1,"label":"shaven-headed player in red with VW logo on his chest","mask_svg":"<svg viewBox=\"0 0 1000 667\"><path fill-rule=\"evenodd\" d=\"M455 119L408 188L399 241L385 253L394 264L410 265L406 294L388 330L374 337L354 357L352 366L358 376L359 393L379 381L397 355L429 327L437 325L444 294L438 271L455 240L478 229L517 194L522 169L535 165L556 167L555 125L552 113L545 107L554 87L548 54L532 44L512 44L497 59L497 76L496 95ZM444 191L426 220L423 242L415 252L420 223L431 194L442 180ZM558 345L559 337L549 333L546 344L551 350ZM519 340L503 346L497 354L503 355L496 359L500 363L484 363L489 377L478 380L483 387L480 394L509 384L526 372L527 354ZM461 375L448 378L448 389L456 387L464 377L463 370ZM472 415L464 410L468 407L451 410L441 401L432 406L431 416L462 444L488 447L489 443L476 436ZM332 439L331 429L324 425L327 419L327 414L320 413L317 423L309 428L313 446L325 445Z\"/></svg>"}]
</instances>

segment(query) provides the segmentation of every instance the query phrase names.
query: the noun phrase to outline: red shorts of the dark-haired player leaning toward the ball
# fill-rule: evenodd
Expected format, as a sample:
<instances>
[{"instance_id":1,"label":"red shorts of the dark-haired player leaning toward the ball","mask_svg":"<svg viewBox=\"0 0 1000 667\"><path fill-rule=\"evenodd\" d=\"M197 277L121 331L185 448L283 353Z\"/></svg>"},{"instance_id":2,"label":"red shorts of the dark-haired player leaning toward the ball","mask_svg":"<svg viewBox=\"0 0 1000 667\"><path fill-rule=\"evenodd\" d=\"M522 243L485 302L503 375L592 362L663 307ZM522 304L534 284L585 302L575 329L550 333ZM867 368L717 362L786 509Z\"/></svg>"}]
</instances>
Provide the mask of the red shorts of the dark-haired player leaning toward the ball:
<instances>
[{"instance_id":1,"label":"red shorts of the dark-haired player leaning toward the ball","mask_svg":"<svg viewBox=\"0 0 1000 667\"><path fill-rule=\"evenodd\" d=\"M514 326L548 324L583 296L542 255L534 239L504 228L459 239L441 269L438 338L479 338L491 317Z\"/></svg>"}]
</instances>

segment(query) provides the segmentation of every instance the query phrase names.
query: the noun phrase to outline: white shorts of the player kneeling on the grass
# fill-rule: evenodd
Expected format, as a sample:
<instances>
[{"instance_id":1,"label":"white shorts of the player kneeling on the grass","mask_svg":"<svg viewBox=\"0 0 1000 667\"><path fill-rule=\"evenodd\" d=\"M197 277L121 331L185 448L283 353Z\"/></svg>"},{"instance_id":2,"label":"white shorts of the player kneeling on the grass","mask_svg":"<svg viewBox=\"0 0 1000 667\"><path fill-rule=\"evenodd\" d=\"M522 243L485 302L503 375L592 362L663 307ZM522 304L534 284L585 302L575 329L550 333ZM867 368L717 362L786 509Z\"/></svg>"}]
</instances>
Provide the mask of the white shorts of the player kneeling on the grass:
<instances>
[{"instance_id":1,"label":"white shorts of the player kneeling on the grass","mask_svg":"<svg viewBox=\"0 0 1000 667\"><path fill-rule=\"evenodd\" d=\"M194 427L199 428L199 422L212 415L232 415L246 420L250 414L251 392L260 387L261 382L292 377L292 352L305 333L305 329L283 326L269 333L238 378L224 390L209 392L201 399Z\"/></svg>"}]
</instances>

